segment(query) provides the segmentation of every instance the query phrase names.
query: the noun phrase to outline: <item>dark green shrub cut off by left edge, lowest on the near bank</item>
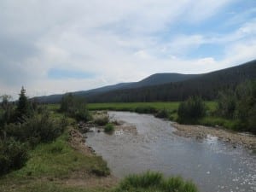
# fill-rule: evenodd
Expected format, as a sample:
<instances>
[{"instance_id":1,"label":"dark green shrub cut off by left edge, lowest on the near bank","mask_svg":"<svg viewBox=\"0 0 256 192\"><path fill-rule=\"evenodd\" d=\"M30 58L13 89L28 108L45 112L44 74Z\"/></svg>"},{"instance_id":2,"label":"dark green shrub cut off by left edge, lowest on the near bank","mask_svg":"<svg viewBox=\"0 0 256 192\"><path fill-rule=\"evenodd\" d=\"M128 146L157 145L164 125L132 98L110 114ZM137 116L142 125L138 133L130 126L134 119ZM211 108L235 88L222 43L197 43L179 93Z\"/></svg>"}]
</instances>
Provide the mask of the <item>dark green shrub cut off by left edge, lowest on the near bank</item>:
<instances>
[{"instance_id":1,"label":"dark green shrub cut off by left edge, lowest on the near bank","mask_svg":"<svg viewBox=\"0 0 256 192\"><path fill-rule=\"evenodd\" d=\"M0 175L24 166L28 159L26 144L14 139L0 141Z\"/></svg>"}]
</instances>

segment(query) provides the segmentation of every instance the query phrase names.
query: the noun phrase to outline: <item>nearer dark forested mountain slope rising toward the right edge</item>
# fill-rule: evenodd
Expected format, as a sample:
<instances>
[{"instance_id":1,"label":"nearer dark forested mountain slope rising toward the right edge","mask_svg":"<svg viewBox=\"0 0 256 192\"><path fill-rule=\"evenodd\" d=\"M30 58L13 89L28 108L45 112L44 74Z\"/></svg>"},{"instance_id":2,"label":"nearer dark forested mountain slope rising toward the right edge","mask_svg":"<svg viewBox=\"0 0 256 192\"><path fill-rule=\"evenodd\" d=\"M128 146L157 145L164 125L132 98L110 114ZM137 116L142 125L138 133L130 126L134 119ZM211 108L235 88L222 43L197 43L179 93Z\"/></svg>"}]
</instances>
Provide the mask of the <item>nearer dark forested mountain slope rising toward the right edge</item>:
<instances>
[{"instance_id":1,"label":"nearer dark forested mountain slope rising toward the right edge","mask_svg":"<svg viewBox=\"0 0 256 192\"><path fill-rule=\"evenodd\" d=\"M164 102L183 101L189 96L200 95L206 100L213 100L219 90L235 89L237 84L251 79L256 79L256 60L183 81L113 90L87 99L89 102Z\"/></svg>"}]
</instances>

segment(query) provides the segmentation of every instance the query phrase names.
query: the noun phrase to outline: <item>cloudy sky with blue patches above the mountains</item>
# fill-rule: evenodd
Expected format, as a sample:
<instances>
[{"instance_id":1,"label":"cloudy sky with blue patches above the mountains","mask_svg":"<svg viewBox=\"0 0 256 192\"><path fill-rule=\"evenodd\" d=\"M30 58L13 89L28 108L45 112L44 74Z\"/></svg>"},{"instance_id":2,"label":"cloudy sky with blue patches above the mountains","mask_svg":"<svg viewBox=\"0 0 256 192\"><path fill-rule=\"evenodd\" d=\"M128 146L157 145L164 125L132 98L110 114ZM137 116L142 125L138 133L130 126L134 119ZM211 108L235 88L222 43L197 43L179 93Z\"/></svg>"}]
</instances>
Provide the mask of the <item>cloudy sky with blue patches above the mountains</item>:
<instances>
[{"instance_id":1,"label":"cloudy sky with blue patches above the mountains","mask_svg":"<svg viewBox=\"0 0 256 192\"><path fill-rule=\"evenodd\" d=\"M256 0L1 0L0 96L90 90L256 59Z\"/></svg>"}]
</instances>

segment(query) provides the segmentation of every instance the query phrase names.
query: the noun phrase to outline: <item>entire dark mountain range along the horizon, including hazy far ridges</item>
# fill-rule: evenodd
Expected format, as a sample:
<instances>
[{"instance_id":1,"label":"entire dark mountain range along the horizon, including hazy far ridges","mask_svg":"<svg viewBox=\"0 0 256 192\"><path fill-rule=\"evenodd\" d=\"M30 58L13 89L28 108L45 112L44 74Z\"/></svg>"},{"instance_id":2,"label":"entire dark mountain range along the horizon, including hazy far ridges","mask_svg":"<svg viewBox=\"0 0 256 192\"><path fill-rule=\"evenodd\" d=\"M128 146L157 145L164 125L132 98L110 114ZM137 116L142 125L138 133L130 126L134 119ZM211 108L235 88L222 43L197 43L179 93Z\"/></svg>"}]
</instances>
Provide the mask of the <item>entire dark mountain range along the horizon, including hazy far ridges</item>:
<instances>
[{"instance_id":1,"label":"entire dark mountain range along the horizon, including hazy far ridges","mask_svg":"<svg viewBox=\"0 0 256 192\"><path fill-rule=\"evenodd\" d=\"M214 99L218 90L235 86L246 79L256 79L256 60L212 73L156 73L138 82L104 86L73 92L88 102L179 101L189 95ZM60 102L63 95L39 96L38 102Z\"/></svg>"}]
</instances>

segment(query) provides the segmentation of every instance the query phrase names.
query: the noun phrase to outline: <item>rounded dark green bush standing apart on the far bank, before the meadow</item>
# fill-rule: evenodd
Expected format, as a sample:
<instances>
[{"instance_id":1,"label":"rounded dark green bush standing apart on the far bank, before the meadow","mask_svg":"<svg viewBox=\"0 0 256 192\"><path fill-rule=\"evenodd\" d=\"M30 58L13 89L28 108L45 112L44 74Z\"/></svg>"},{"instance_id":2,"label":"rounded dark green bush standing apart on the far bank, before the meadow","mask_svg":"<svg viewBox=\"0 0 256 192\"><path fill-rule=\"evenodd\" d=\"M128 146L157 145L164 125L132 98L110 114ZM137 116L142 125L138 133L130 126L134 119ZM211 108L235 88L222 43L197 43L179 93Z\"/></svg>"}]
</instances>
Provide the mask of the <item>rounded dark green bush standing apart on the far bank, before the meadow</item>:
<instances>
[{"instance_id":1,"label":"rounded dark green bush standing apart on the far bank, before the meadow","mask_svg":"<svg viewBox=\"0 0 256 192\"><path fill-rule=\"evenodd\" d=\"M177 109L179 123L194 124L198 119L206 115L206 105L199 96L191 96L185 102L181 102Z\"/></svg>"}]
</instances>

